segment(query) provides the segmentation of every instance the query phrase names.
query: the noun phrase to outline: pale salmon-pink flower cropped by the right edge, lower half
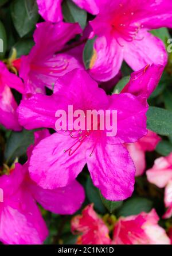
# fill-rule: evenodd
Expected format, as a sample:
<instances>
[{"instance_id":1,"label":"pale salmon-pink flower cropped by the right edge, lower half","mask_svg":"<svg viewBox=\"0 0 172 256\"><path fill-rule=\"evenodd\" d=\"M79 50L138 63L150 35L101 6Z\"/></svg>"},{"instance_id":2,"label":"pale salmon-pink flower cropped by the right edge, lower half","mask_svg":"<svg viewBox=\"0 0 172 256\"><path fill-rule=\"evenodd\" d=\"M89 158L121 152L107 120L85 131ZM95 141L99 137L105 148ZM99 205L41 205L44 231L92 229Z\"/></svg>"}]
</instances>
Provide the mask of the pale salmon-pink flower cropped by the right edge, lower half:
<instances>
[{"instance_id":1,"label":"pale salmon-pink flower cropped by the right edge, lower half","mask_svg":"<svg viewBox=\"0 0 172 256\"><path fill-rule=\"evenodd\" d=\"M146 171L149 182L165 188L165 206L168 208L163 217L172 216L172 153L155 160L154 166Z\"/></svg>"}]
</instances>

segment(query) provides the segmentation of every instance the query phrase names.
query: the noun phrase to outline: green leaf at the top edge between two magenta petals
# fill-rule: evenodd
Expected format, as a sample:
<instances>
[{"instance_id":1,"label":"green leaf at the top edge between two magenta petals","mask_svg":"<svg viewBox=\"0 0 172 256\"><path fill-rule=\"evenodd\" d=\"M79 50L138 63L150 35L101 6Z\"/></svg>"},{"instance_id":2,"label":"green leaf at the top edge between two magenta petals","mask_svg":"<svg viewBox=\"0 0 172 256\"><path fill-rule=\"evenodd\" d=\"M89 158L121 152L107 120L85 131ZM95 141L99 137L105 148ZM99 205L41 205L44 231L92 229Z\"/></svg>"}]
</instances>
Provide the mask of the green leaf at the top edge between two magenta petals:
<instances>
[{"instance_id":1,"label":"green leaf at the top edge between two magenta petals","mask_svg":"<svg viewBox=\"0 0 172 256\"><path fill-rule=\"evenodd\" d=\"M62 3L62 13L65 21L71 23L78 22L82 29L85 28L87 24L87 12L80 9L71 0L65 0Z\"/></svg>"}]
</instances>

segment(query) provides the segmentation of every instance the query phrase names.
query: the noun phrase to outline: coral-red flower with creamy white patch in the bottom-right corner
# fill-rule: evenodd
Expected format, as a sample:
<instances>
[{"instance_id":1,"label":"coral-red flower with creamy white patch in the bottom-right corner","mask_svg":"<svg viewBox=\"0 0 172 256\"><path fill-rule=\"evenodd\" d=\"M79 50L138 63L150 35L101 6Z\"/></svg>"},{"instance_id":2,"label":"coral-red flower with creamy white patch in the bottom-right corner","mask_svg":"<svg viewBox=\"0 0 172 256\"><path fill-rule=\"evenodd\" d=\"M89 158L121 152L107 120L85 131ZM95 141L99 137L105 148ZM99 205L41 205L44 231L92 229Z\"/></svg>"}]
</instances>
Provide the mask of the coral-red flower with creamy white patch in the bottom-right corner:
<instances>
[{"instance_id":1,"label":"coral-red flower with creamy white patch in the bottom-right corner","mask_svg":"<svg viewBox=\"0 0 172 256\"><path fill-rule=\"evenodd\" d=\"M158 225L159 217L153 209L120 217L114 228L114 244L170 244L165 230Z\"/></svg>"}]
</instances>

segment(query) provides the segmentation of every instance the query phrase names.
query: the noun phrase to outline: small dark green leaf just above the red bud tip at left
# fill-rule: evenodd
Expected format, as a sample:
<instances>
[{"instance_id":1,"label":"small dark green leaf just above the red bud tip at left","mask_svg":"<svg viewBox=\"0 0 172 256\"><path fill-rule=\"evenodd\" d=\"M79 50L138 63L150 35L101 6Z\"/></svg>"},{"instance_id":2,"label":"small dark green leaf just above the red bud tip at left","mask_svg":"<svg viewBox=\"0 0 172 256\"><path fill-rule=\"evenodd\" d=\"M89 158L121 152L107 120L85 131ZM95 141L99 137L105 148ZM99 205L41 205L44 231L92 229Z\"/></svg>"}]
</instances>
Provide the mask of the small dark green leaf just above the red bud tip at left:
<instances>
[{"instance_id":1,"label":"small dark green leaf just above the red bud tip at left","mask_svg":"<svg viewBox=\"0 0 172 256\"><path fill-rule=\"evenodd\" d=\"M21 39L14 44L13 48L15 48L17 51L17 58L21 57L22 55L28 55L33 45L34 41L32 39Z\"/></svg>"}]
</instances>

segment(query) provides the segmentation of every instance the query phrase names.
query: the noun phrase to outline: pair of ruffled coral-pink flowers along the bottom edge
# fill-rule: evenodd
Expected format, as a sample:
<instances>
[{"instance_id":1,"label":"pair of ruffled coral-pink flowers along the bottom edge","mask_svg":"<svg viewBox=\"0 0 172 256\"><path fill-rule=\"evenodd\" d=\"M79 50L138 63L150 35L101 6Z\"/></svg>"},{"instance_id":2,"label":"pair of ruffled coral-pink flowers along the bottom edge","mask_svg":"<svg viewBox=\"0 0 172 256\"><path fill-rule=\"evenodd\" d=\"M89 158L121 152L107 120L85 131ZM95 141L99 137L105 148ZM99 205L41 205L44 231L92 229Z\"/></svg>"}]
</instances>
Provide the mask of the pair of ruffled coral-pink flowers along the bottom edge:
<instances>
[{"instance_id":1,"label":"pair of ruffled coral-pink flowers along the bottom edge","mask_svg":"<svg viewBox=\"0 0 172 256\"><path fill-rule=\"evenodd\" d=\"M104 221L88 205L72 220L72 231L79 232L77 244L170 244L165 230L158 225L159 217L153 209L139 215L120 217L114 223L112 238Z\"/></svg>"}]
</instances>

